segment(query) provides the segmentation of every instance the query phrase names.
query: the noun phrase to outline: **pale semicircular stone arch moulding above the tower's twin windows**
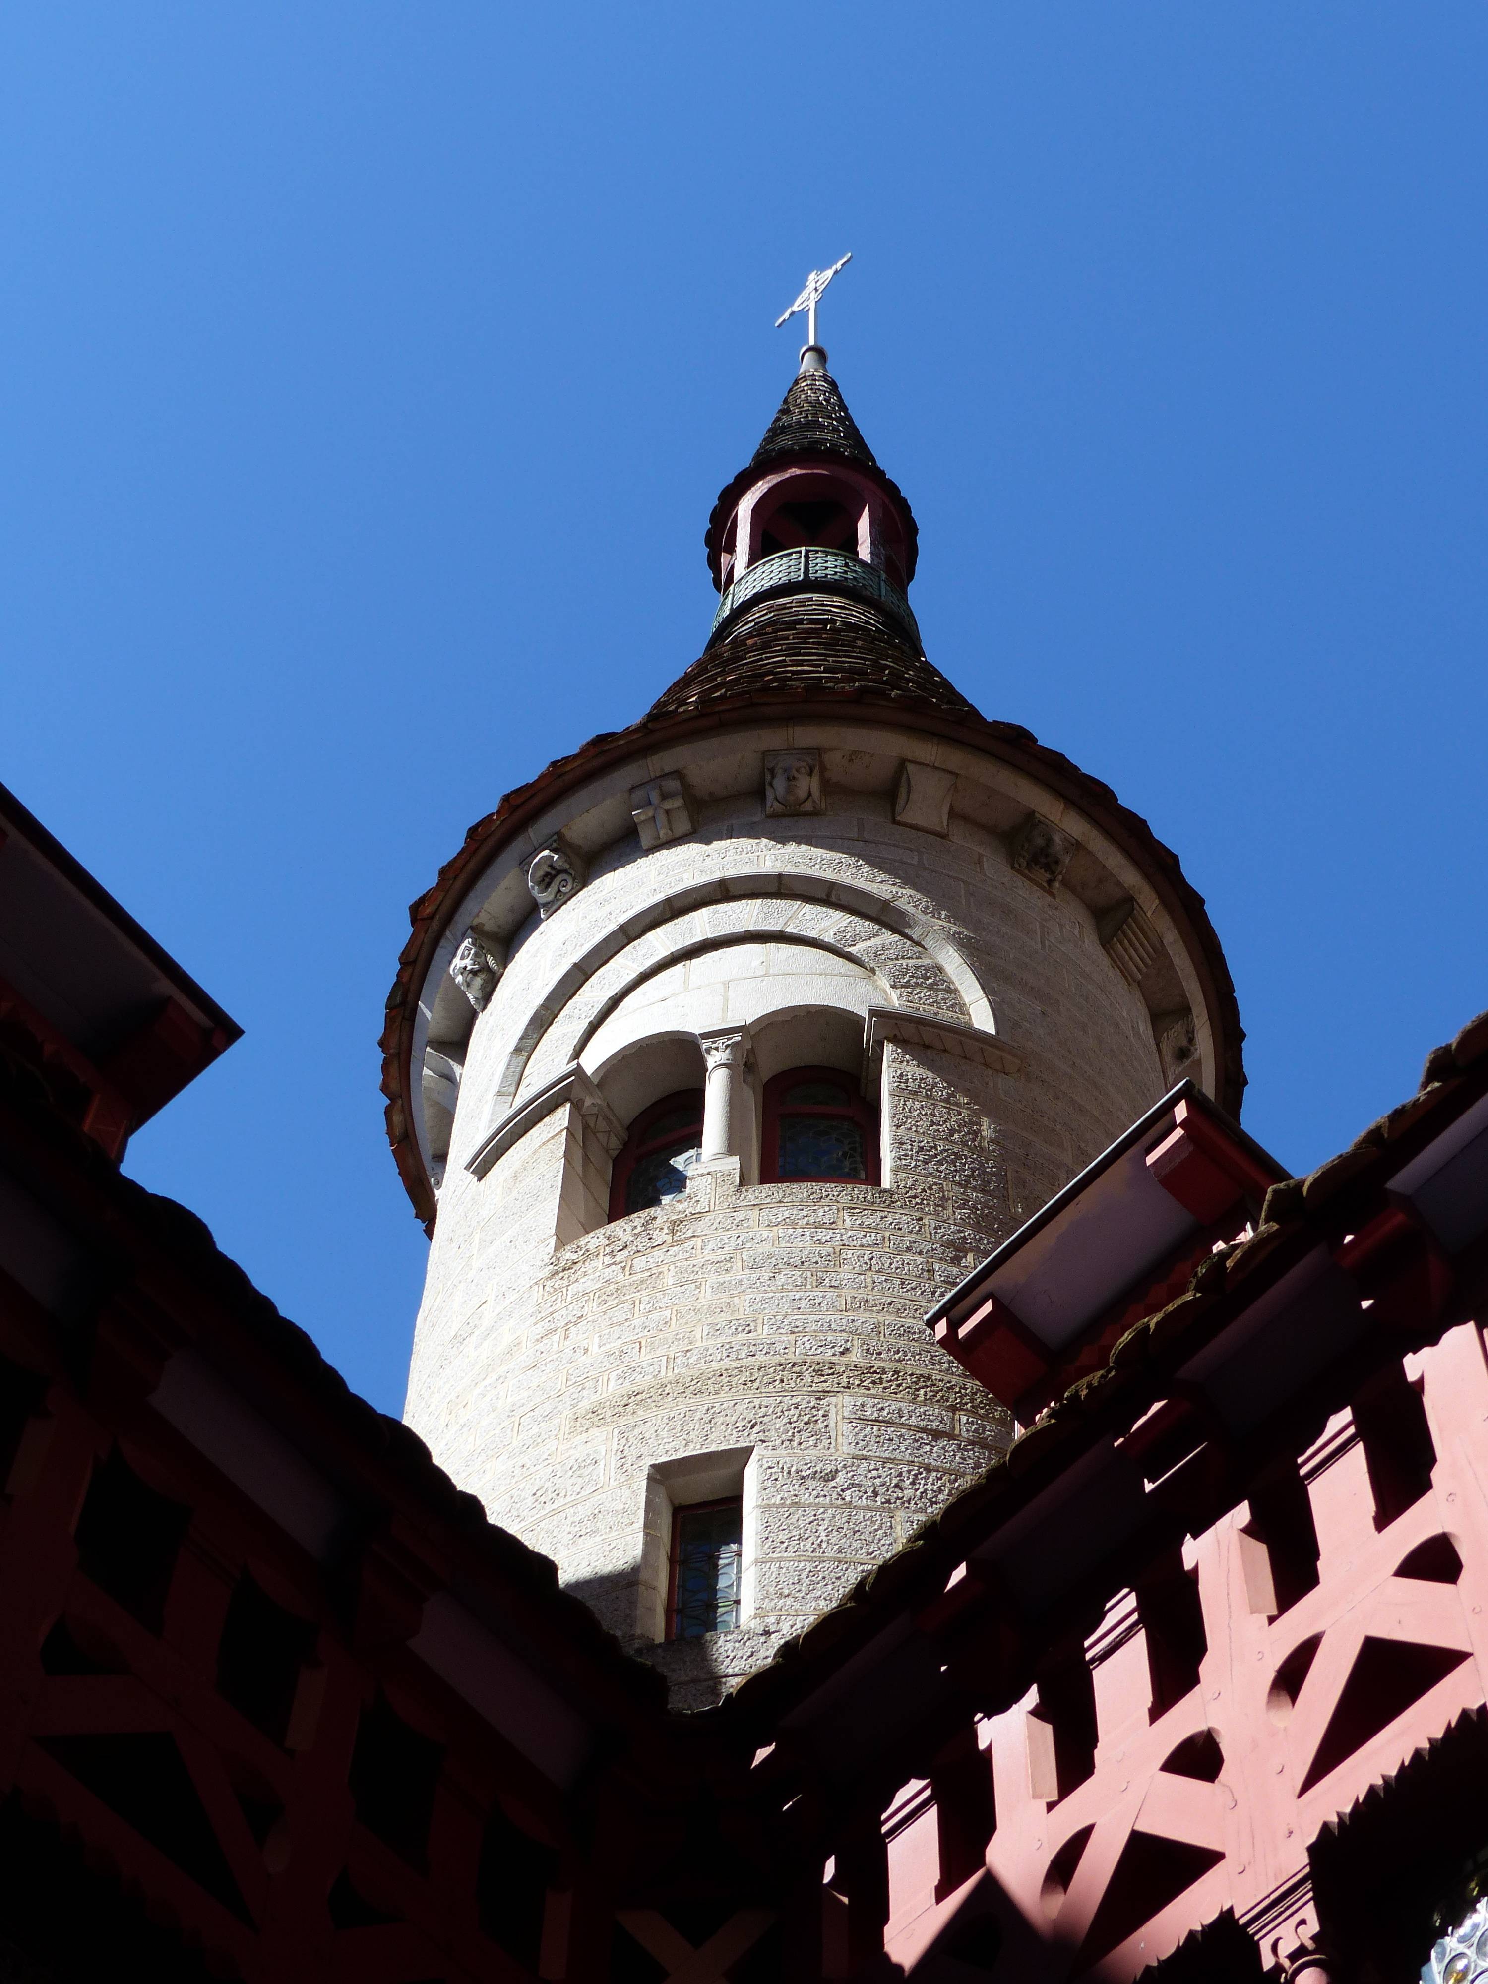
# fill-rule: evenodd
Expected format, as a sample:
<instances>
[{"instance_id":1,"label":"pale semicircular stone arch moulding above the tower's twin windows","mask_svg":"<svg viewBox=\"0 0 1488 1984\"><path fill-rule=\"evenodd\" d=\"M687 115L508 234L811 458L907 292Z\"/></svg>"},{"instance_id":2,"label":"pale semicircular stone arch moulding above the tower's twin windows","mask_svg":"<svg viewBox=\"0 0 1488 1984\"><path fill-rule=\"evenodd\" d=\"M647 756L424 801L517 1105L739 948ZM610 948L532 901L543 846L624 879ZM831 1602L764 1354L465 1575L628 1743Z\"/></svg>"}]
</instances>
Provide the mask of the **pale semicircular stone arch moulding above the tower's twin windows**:
<instances>
[{"instance_id":1,"label":"pale semicircular stone arch moulding above the tower's twin windows","mask_svg":"<svg viewBox=\"0 0 1488 1984\"><path fill-rule=\"evenodd\" d=\"M728 942L794 942L869 970L885 1002L996 1032L992 1004L966 958L932 919L867 889L821 877L718 877L665 897L653 913L625 919L615 934L575 958L534 1006L512 1044L492 1101L502 1115L532 1089L577 1059L605 1016L647 978ZM798 893L800 891L800 893ZM625 940L629 938L629 940Z\"/></svg>"}]
</instances>

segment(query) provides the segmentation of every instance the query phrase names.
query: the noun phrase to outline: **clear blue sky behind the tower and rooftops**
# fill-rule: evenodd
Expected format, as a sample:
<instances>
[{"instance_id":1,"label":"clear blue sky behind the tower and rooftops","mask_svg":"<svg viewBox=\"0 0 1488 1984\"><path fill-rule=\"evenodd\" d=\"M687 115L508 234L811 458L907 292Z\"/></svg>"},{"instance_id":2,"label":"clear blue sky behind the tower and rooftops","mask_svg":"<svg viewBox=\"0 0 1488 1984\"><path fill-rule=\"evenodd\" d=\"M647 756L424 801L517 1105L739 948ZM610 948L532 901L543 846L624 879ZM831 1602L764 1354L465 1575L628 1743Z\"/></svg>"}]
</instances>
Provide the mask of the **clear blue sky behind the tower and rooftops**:
<instances>
[{"instance_id":1,"label":"clear blue sky behind the tower and rooftops","mask_svg":"<svg viewBox=\"0 0 1488 1984\"><path fill-rule=\"evenodd\" d=\"M242 1022L133 1145L377 1405L407 905L698 653L823 313L932 659L1208 899L1294 1169L1488 1004L1482 0L12 0L0 778Z\"/></svg>"}]
</instances>

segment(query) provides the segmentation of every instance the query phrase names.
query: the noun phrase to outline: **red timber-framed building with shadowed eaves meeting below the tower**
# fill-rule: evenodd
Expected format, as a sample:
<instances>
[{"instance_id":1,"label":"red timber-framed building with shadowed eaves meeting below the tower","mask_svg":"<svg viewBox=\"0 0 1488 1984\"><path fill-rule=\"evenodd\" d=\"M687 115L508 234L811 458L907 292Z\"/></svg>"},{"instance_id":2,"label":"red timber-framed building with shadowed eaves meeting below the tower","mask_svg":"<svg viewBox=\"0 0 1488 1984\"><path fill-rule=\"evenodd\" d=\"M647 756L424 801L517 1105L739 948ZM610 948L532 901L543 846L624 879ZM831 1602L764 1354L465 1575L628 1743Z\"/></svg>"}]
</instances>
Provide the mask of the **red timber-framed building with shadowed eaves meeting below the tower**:
<instances>
[{"instance_id":1,"label":"red timber-framed building with shadowed eaves meeting below the tower","mask_svg":"<svg viewBox=\"0 0 1488 1984\"><path fill-rule=\"evenodd\" d=\"M1048 1407L1006 1466L679 1718L107 1163L83 1123L109 1081L38 1020L0 1006L6 1960L60 1984L1419 1968L1488 1843L1488 1026L1305 1184L1202 1111L1151 1153L1139 1125L1159 1244L1109 1288L1044 1282L1083 1290L1057 1359L976 1278L938 1323ZM179 1016L131 1052L121 1107L151 1067L185 1079ZM841 1079L778 1079L813 1075Z\"/></svg>"}]
</instances>

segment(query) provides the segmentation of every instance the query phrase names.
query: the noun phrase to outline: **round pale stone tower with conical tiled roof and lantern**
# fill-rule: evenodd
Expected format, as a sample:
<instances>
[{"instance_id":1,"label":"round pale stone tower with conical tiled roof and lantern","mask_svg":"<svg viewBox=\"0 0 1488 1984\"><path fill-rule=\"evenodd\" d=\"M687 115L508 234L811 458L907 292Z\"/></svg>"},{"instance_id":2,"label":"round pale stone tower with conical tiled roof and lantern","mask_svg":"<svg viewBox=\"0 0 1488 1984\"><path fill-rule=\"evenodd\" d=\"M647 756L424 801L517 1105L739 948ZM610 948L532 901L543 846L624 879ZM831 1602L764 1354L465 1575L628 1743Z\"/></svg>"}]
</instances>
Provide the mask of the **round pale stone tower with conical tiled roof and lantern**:
<instances>
[{"instance_id":1,"label":"round pale stone tower with conical tiled roof and lantern","mask_svg":"<svg viewBox=\"0 0 1488 1984\"><path fill-rule=\"evenodd\" d=\"M925 659L819 347L706 542L702 659L470 829L385 1036L409 1423L679 1706L1006 1440L927 1309L1177 1079L1244 1081L1177 859Z\"/></svg>"}]
</instances>

